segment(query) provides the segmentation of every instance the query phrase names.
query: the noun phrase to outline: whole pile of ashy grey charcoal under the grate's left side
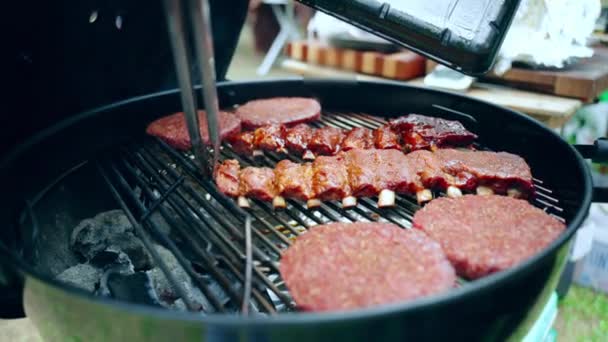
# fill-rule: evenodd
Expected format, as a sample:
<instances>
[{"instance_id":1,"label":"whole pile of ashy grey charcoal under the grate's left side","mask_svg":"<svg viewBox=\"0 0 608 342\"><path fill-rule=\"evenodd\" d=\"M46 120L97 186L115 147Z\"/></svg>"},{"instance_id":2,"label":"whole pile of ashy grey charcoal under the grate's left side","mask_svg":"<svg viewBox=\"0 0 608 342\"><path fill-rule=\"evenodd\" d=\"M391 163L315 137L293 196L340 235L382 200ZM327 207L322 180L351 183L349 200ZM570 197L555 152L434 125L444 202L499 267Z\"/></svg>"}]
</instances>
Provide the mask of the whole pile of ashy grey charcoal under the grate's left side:
<instances>
[{"instance_id":1,"label":"whole pile of ashy grey charcoal under the grate's left side","mask_svg":"<svg viewBox=\"0 0 608 342\"><path fill-rule=\"evenodd\" d=\"M170 218L175 219L175 222L169 220L172 224L185 224L166 204L162 205L168 209L168 214L172 216ZM171 233L169 222L158 211L150 215L148 222L153 223L161 234ZM151 234L150 237L156 238L156 234ZM211 303L173 253L163 246L157 244L154 246L161 260L185 289L189 300L201 311L213 312ZM72 231L70 248L79 257L81 263L64 270L57 277L58 280L98 296L187 310L184 301L146 251L142 241L135 235L130 221L121 210L103 212L81 221ZM187 255L187 250L183 252L186 257L190 257ZM194 265L193 269L221 304L228 310L232 307L235 312L238 310L240 303L229 303L229 296L222 286L207 274L207 270ZM231 277L228 279L231 284L239 283ZM236 290L241 291L240 288Z\"/></svg>"}]
</instances>

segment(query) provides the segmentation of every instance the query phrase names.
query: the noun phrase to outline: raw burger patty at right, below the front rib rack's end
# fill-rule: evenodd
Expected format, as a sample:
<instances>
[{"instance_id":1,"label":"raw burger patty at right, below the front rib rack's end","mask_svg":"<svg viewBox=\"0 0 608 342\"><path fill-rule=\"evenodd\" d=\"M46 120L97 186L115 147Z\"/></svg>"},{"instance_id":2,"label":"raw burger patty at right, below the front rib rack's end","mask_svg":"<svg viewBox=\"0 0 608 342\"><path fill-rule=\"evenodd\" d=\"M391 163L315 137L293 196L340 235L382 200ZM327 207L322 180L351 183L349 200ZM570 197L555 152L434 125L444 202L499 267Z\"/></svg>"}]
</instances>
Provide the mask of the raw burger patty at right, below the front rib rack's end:
<instances>
[{"instance_id":1,"label":"raw burger patty at right, below the front rib rack's end","mask_svg":"<svg viewBox=\"0 0 608 342\"><path fill-rule=\"evenodd\" d=\"M414 228L441 244L459 275L476 279L540 252L565 225L525 200L466 195L433 200L416 212Z\"/></svg>"}]
</instances>

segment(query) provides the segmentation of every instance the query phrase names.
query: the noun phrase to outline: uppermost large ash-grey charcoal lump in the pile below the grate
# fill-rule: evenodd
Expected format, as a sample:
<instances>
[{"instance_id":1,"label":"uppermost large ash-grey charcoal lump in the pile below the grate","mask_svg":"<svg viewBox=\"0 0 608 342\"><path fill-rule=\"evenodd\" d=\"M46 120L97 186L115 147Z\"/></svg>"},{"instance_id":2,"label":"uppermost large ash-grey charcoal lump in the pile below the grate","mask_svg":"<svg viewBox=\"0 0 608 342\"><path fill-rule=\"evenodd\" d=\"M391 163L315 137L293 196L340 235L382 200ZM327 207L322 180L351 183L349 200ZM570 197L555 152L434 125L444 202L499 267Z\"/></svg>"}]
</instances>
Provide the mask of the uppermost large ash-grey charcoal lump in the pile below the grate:
<instances>
[{"instance_id":1,"label":"uppermost large ash-grey charcoal lump in the pile below the grate","mask_svg":"<svg viewBox=\"0 0 608 342\"><path fill-rule=\"evenodd\" d=\"M135 236L133 226L122 210L103 212L80 222L72 231L70 247L85 260L91 260L98 253L112 247L126 253L135 270L152 267L148 252Z\"/></svg>"}]
</instances>

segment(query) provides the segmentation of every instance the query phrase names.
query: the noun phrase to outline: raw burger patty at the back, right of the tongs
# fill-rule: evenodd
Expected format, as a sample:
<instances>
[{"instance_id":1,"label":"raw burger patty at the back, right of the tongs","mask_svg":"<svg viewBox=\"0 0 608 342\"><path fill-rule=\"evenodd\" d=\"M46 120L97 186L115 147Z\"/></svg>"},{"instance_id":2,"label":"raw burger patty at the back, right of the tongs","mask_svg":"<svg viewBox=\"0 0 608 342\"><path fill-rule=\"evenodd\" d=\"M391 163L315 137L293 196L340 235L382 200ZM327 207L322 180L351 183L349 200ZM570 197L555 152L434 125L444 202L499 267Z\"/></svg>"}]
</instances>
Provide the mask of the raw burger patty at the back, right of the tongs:
<instances>
[{"instance_id":1,"label":"raw burger patty at the back, right of the tongs","mask_svg":"<svg viewBox=\"0 0 608 342\"><path fill-rule=\"evenodd\" d=\"M295 125L319 120L321 105L304 97L275 97L249 101L237 108L236 115L246 129L270 124Z\"/></svg>"}]
</instances>

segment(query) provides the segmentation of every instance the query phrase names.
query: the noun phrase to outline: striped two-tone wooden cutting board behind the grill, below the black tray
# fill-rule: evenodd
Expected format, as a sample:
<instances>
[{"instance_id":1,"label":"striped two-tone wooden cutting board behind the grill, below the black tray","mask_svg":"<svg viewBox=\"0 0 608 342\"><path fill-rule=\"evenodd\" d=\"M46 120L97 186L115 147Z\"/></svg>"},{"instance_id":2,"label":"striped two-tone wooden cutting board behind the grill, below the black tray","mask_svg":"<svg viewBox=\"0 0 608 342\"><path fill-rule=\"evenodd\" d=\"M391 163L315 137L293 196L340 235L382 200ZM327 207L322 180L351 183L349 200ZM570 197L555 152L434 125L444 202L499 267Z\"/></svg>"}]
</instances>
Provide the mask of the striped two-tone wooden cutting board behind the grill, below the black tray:
<instances>
[{"instance_id":1,"label":"striped two-tone wooden cutting board behind the grill, below the black tray","mask_svg":"<svg viewBox=\"0 0 608 342\"><path fill-rule=\"evenodd\" d=\"M285 48L291 59L339 70L394 80L410 80L425 74L426 59L411 51L385 54L339 49L317 42L291 42Z\"/></svg>"}]
</instances>

